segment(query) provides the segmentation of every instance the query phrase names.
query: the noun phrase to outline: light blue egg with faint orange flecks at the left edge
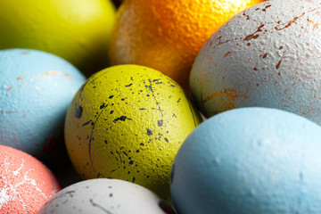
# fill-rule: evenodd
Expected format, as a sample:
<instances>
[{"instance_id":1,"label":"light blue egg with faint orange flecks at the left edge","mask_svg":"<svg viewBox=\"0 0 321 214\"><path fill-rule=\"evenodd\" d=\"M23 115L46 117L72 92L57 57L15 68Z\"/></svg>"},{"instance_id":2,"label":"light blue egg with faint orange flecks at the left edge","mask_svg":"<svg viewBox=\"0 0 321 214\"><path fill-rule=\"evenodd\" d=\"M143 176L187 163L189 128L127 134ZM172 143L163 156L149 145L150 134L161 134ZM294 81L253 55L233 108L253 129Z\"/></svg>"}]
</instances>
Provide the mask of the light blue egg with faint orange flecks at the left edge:
<instances>
[{"instance_id":1,"label":"light blue egg with faint orange flecks at the left edge","mask_svg":"<svg viewBox=\"0 0 321 214\"><path fill-rule=\"evenodd\" d=\"M64 142L66 111L85 76L51 53L7 49L0 77L0 144L45 158Z\"/></svg>"}]
</instances>

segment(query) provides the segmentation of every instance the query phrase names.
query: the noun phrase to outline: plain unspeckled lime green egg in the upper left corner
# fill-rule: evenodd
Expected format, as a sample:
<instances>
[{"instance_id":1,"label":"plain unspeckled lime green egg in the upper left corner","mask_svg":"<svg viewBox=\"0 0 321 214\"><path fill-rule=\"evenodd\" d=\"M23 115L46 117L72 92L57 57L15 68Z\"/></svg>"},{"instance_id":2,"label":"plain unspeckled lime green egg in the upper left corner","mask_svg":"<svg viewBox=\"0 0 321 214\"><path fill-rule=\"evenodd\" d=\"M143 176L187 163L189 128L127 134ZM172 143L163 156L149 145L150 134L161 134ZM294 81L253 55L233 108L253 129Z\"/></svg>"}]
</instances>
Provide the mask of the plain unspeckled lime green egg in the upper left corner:
<instances>
[{"instance_id":1,"label":"plain unspeckled lime green egg in the upper left corner","mask_svg":"<svg viewBox=\"0 0 321 214\"><path fill-rule=\"evenodd\" d=\"M111 0L1 1L0 49L53 53L90 76L110 64L115 13Z\"/></svg>"}]
</instances>

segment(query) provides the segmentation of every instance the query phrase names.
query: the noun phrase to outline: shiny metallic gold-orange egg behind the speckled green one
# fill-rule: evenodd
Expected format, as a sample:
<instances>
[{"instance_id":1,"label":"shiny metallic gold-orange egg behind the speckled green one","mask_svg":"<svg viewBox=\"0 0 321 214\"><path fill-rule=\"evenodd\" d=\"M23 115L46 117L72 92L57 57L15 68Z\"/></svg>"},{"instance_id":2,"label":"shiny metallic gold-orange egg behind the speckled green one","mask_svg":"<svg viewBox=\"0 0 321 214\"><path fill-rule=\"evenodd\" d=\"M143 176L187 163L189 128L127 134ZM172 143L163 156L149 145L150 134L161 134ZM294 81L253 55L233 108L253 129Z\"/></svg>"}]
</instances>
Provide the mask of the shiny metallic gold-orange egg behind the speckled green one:
<instances>
[{"instance_id":1,"label":"shiny metallic gold-orange egg behind the speckled green one","mask_svg":"<svg viewBox=\"0 0 321 214\"><path fill-rule=\"evenodd\" d=\"M128 0L111 32L111 63L160 70L186 90L202 45L229 18L263 0Z\"/></svg>"}]
</instances>

